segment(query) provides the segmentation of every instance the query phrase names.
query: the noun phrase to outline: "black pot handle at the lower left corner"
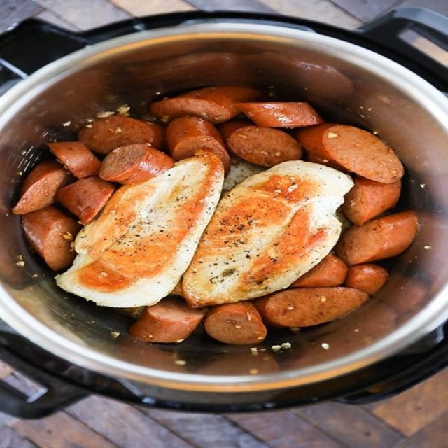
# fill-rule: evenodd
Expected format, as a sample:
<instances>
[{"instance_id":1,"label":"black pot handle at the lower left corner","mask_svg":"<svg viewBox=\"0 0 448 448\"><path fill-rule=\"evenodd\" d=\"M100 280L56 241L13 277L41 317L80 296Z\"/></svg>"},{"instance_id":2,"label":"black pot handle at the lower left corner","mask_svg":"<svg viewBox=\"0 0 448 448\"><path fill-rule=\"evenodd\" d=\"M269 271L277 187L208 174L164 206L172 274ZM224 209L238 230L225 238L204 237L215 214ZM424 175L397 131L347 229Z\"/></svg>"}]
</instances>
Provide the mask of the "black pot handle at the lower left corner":
<instances>
[{"instance_id":1,"label":"black pot handle at the lower left corner","mask_svg":"<svg viewBox=\"0 0 448 448\"><path fill-rule=\"evenodd\" d=\"M0 333L1 336L1 333ZM55 377L49 377L41 370L37 370L25 361L0 347L0 359L8 363L22 376L40 386L35 393L27 396L8 379L0 380L0 411L22 419L40 419L53 414L59 409L71 405L73 402L85 398L87 393L72 384L61 381ZM13 382L13 381L11 381Z\"/></svg>"}]
</instances>

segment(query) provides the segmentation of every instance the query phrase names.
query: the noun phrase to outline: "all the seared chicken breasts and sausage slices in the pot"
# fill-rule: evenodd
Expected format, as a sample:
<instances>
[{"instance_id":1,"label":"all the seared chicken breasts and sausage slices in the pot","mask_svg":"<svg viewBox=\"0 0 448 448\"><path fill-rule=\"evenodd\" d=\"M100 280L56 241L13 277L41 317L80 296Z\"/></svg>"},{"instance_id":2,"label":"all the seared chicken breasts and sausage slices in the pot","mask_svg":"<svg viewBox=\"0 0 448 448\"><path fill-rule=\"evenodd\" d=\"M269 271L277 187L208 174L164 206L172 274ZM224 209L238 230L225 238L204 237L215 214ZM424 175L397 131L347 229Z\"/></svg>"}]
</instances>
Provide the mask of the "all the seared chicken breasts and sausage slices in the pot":
<instances>
[{"instance_id":1,"label":"all the seared chicken breasts and sausage slices in the pot","mask_svg":"<svg viewBox=\"0 0 448 448\"><path fill-rule=\"evenodd\" d=\"M144 342L203 327L251 346L267 328L330 322L376 294L381 260L418 231L414 211L389 212L402 163L366 130L266 97L206 87L150 105L166 132L109 116L87 120L80 141L48 143L57 160L30 172L12 211L51 269L73 262L57 285L127 309Z\"/></svg>"}]
</instances>

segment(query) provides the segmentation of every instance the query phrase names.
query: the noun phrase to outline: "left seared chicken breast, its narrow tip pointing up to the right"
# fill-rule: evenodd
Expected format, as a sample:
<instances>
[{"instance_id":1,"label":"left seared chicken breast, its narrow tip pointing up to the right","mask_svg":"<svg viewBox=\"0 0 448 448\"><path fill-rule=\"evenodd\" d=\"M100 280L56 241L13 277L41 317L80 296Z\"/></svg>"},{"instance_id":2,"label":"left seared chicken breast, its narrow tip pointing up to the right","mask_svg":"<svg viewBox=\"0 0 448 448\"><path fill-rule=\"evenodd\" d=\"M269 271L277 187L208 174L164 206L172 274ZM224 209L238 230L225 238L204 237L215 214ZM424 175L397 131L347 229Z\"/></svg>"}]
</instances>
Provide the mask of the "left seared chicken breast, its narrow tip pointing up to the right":
<instances>
[{"instance_id":1,"label":"left seared chicken breast, its narrow tip pointing up to the right","mask_svg":"<svg viewBox=\"0 0 448 448\"><path fill-rule=\"evenodd\" d=\"M218 204L224 169L213 153L123 186L78 233L73 266L56 277L106 307L153 305L176 286Z\"/></svg>"}]
</instances>

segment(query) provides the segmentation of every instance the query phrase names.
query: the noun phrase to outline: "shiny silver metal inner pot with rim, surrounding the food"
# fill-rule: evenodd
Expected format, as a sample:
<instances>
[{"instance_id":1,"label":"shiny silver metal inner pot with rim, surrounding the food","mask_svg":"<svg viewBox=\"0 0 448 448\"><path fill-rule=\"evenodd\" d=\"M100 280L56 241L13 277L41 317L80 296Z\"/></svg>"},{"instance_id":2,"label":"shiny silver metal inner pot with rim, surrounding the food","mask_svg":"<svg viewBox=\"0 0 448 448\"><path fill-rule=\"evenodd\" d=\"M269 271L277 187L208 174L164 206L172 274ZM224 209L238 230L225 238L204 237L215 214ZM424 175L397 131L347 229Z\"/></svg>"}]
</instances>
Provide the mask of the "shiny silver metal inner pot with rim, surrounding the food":
<instances>
[{"instance_id":1,"label":"shiny silver metal inner pot with rim, surrounding the food","mask_svg":"<svg viewBox=\"0 0 448 448\"><path fill-rule=\"evenodd\" d=\"M8 214L20 172L45 157L43 139L70 138L85 118L123 103L141 116L155 98L216 84L269 87L281 100L311 102L327 120L378 131L407 169L398 208L418 211L421 220L412 247L387 263L391 280L365 307L309 330L272 331L258 356L201 333L174 346L130 339L128 316L56 288L52 272L27 248L20 219ZM268 391L369 365L448 316L447 130L448 100L421 78L373 52L307 31L193 24L80 50L0 99L0 317L73 363L169 389ZM25 267L15 265L19 255ZM292 348L270 349L282 342ZM179 359L186 365L174 362Z\"/></svg>"}]
</instances>

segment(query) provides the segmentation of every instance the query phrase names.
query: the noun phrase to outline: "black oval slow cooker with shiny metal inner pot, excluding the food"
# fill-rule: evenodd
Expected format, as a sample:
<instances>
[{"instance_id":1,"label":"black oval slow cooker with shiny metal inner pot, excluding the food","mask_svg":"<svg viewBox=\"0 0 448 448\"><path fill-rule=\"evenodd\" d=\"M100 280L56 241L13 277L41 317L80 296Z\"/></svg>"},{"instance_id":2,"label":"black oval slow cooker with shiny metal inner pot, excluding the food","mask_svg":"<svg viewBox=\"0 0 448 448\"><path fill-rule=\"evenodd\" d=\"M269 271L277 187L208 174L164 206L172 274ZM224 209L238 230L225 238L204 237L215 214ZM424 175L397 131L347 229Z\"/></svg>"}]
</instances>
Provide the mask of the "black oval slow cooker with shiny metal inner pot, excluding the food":
<instances>
[{"instance_id":1,"label":"black oval slow cooker with shiny metal inner pot, excluding the food","mask_svg":"<svg viewBox=\"0 0 448 448\"><path fill-rule=\"evenodd\" d=\"M357 31L278 16L182 13L84 34L31 20L4 35L3 90L25 79L0 98L0 358L48 391L27 400L3 383L0 410L41 416L92 392L204 411L366 402L446 365L448 99L440 90L448 91L448 78L444 66L401 40L411 26L448 43L448 20L417 9ZM73 138L99 111L129 104L140 116L155 98L220 84L267 87L280 100L311 102L327 120L378 132L407 169L398 207L416 210L421 221L365 307L328 325L272 332L256 356L200 332L176 345L131 339L125 314L55 286L20 218L9 214L21 175L45 158L45 139ZM272 350L283 342L291 348Z\"/></svg>"}]
</instances>

